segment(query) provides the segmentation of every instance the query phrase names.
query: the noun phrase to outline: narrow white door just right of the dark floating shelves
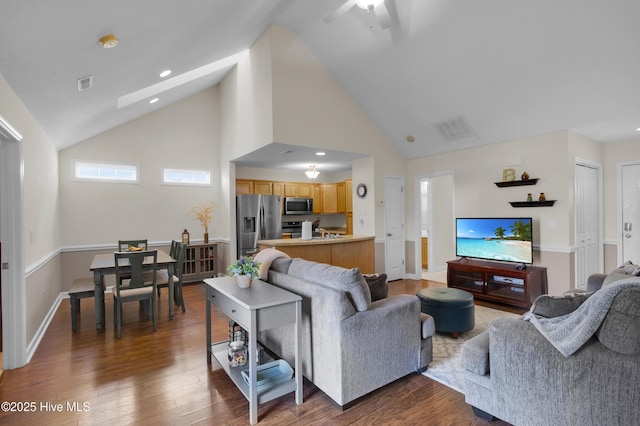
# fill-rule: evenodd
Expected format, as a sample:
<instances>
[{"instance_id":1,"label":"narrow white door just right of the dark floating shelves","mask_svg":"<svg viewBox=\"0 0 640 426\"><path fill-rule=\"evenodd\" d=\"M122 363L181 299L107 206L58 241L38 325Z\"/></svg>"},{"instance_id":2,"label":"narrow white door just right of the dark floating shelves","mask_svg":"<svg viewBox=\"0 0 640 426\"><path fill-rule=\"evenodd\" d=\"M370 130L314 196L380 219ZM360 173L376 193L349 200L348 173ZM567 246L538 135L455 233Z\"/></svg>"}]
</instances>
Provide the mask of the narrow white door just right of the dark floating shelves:
<instances>
[{"instance_id":1,"label":"narrow white door just right of the dark floating shelves","mask_svg":"<svg viewBox=\"0 0 640 426\"><path fill-rule=\"evenodd\" d=\"M586 288L587 278L602 272L600 242L599 170L586 164L576 164L574 175L576 226L576 282Z\"/></svg>"}]
</instances>

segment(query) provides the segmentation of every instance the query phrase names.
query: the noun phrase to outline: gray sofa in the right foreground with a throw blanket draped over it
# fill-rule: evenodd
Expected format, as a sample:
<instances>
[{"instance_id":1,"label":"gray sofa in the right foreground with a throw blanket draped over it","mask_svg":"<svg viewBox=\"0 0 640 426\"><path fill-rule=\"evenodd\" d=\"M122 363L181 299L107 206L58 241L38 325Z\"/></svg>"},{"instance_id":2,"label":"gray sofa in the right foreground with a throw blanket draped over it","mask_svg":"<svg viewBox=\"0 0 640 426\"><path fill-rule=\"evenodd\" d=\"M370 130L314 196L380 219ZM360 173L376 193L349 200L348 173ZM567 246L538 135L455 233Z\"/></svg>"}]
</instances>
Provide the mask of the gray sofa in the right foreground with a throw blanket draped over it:
<instances>
[{"instance_id":1,"label":"gray sofa in the right foreground with a throw blanket draped over it","mask_svg":"<svg viewBox=\"0 0 640 426\"><path fill-rule=\"evenodd\" d=\"M496 319L466 342L465 400L476 414L515 425L640 424L634 272L626 264L590 277L594 293L540 296L522 318Z\"/></svg>"}]
</instances>

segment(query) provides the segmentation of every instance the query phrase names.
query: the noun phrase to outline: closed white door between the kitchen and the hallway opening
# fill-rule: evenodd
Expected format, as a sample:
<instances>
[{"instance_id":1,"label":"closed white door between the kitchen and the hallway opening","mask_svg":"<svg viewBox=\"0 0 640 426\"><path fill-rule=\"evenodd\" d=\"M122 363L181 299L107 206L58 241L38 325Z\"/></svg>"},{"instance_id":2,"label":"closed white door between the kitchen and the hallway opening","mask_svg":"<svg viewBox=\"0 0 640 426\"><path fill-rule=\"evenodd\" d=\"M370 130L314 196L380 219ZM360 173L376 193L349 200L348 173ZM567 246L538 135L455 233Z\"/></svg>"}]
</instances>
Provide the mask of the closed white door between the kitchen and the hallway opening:
<instances>
[{"instance_id":1,"label":"closed white door between the kitchen and the hallway opening","mask_svg":"<svg viewBox=\"0 0 640 426\"><path fill-rule=\"evenodd\" d=\"M404 180L384 178L385 273L389 281L404 278Z\"/></svg>"}]
</instances>

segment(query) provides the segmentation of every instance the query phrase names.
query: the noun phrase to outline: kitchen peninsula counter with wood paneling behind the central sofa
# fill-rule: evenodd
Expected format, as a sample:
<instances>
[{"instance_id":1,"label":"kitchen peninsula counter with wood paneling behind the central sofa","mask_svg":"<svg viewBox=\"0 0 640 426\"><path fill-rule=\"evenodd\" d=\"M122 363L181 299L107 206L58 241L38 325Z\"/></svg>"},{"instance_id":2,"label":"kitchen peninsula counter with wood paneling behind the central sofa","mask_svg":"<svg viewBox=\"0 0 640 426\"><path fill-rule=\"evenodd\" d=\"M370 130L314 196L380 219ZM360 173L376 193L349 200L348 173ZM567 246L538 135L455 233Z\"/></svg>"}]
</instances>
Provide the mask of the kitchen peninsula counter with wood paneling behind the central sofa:
<instances>
[{"instance_id":1,"label":"kitchen peninsula counter with wood paneling behind the central sofa","mask_svg":"<svg viewBox=\"0 0 640 426\"><path fill-rule=\"evenodd\" d=\"M336 238L283 238L277 240L260 240L260 250L273 247L291 257L301 257L315 262L342 266L343 268L360 268L363 274L375 272L375 247L373 236L341 235Z\"/></svg>"}]
</instances>

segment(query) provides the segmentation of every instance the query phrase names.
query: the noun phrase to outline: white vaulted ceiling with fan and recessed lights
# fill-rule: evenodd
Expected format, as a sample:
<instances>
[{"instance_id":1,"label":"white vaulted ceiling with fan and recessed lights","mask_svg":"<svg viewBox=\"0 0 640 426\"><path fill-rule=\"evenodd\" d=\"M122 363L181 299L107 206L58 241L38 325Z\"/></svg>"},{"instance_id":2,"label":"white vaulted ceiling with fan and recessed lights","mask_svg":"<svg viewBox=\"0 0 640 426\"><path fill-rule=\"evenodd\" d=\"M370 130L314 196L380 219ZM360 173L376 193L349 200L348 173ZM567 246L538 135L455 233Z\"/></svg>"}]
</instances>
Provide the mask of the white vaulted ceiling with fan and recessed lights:
<instances>
[{"instance_id":1,"label":"white vaulted ceiling with fan and recessed lights","mask_svg":"<svg viewBox=\"0 0 640 426\"><path fill-rule=\"evenodd\" d=\"M209 72L277 23L406 158L562 129L601 142L638 137L638 0L385 0L389 30L358 7L324 23L343 2L0 0L0 73L63 149L217 84L230 65L153 105L117 107L153 89L162 70ZM99 46L107 33L116 48ZM93 88L78 92L88 75ZM475 138L446 142L434 124L458 117Z\"/></svg>"}]
</instances>

